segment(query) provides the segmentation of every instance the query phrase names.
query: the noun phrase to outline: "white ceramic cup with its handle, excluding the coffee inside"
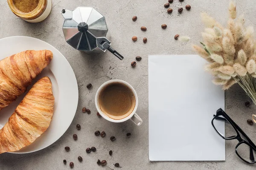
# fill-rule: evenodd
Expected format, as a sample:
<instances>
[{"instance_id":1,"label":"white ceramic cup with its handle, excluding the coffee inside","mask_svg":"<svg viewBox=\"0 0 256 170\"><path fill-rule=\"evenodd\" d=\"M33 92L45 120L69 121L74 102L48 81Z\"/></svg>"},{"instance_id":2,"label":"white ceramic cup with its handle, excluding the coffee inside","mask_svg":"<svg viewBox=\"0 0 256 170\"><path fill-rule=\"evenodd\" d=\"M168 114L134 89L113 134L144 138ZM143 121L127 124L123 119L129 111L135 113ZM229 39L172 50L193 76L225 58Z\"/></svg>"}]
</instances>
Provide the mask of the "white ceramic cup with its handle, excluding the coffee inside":
<instances>
[{"instance_id":1,"label":"white ceramic cup with its handle, excluding the coffee inside","mask_svg":"<svg viewBox=\"0 0 256 170\"><path fill-rule=\"evenodd\" d=\"M100 106L99 106L99 95L101 94L102 92L102 89L112 83L121 83L125 86L127 86L128 88L131 89L131 91L133 92L134 96L135 96L135 106L134 106L134 110L131 112L131 114L123 119L112 119L110 118L109 116L107 116L101 109L100 109ZM108 82L105 82L104 84L102 84L97 93L96 93L96 96L95 96L95 105L96 105L96 108L97 108L97 111L100 113L100 115L110 121L110 122L115 122L115 123L119 123L119 122L125 122L126 120L128 119L131 119L132 122L134 122L136 125L140 126L142 124L142 119L140 118L139 115L137 115L136 110L137 110L137 107L138 107L138 96L137 96L137 93L136 91L134 90L134 88L128 83L128 82L125 82L123 80L119 80L119 79L114 79L114 80L109 80Z\"/></svg>"}]
</instances>

